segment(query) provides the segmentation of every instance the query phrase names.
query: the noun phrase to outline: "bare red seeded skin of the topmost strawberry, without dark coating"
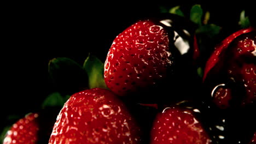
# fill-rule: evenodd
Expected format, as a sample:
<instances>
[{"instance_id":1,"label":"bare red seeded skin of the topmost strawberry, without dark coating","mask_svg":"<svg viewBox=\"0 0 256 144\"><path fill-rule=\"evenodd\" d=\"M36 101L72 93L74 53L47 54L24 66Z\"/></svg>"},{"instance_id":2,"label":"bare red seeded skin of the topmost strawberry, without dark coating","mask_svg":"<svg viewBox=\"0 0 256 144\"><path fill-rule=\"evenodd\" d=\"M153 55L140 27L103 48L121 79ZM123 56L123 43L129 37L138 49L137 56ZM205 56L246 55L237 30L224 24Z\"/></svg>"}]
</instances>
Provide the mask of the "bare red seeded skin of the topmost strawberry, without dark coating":
<instances>
[{"instance_id":1,"label":"bare red seeded skin of the topmost strawberry, without dark coating","mask_svg":"<svg viewBox=\"0 0 256 144\"><path fill-rule=\"evenodd\" d=\"M138 21L114 39L104 64L104 80L118 95L154 85L172 64L166 30L150 20Z\"/></svg>"}]
</instances>

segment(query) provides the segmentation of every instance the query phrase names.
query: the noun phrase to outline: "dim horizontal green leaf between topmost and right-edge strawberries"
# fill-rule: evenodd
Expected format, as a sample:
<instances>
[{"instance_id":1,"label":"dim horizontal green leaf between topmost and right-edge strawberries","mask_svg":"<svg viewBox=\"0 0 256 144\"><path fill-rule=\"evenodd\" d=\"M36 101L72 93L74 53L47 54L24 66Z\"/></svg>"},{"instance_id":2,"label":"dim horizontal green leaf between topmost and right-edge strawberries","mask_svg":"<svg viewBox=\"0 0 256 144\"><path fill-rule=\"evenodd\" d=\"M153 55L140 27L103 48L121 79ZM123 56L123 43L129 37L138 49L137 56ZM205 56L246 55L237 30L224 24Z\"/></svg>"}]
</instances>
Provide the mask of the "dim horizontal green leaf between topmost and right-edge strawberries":
<instances>
[{"instance_id":1,"label":"dim horizontal green leaf between topmost and right-edge strawberries","mask_svg":"<svg viewBox=\"0 0 256 144\"><path fill-rule=\"evenodd\" d=\"M220 28L220 26L211 23L199 27L198 29L196 29L196 33L205 34L208 35L208 37L213 38L215 35L219 34Z\"/></svg>"}]
</instances>

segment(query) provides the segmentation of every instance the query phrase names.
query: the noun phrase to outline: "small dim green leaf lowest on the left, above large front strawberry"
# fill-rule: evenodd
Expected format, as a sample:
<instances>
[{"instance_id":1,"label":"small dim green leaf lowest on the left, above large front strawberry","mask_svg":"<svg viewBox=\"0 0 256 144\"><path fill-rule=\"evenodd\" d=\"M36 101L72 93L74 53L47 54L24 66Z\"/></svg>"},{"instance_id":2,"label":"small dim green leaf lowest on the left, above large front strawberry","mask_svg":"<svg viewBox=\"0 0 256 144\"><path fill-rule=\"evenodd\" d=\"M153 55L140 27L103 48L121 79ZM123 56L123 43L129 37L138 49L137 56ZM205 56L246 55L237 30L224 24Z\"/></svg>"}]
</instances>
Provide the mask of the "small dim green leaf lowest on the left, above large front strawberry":
<instances>
[{"instance_id":1,"label":"small dim green leaf lowest on the left, above large front strawberry","mask_svg":"<svg viewBox=\"0 0 256 144\"><path fill-rule=\"evenodd\" d=\"M49 94L48 97L46 97L46 99L43 101L42 108L44 109L45 107L55 106L62 107L65 102L66 101L62 98L59 92L54 92Z\"/></svg>"}]
</instances>

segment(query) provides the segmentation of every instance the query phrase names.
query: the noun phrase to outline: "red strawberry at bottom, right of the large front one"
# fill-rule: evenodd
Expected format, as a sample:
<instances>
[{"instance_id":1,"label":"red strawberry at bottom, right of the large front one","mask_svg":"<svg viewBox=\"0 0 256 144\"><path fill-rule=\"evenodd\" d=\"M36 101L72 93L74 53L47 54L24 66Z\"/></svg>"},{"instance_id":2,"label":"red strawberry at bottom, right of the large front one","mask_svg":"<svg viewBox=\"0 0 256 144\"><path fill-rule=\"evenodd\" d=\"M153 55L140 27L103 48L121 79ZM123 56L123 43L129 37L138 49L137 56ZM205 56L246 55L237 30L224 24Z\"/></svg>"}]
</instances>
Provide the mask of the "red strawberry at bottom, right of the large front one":
<instances>
[{"instance_id":1,"label":"red strawberry at bottom, right of the large front one","mask_svg":"<svg viewBox=\"0 0 256 144\"><path fill-rule=\"evenodd\" d=\"M178 107L166 108L154 121L151 144L211 143L210 137L193 113Z\"/></svg>"}]
</instances>

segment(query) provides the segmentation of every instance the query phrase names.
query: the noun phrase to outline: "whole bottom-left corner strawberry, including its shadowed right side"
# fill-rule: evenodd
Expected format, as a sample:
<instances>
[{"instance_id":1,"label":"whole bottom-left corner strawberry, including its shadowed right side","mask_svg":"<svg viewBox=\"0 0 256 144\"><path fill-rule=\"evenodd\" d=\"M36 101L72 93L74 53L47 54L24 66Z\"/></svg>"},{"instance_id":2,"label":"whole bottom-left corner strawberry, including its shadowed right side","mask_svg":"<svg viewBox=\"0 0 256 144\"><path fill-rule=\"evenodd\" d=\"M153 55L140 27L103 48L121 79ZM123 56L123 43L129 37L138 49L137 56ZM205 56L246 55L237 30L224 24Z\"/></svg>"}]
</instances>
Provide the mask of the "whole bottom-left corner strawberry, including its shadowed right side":
<instances>
[{"instance_id":1,"label":"whole bottom-left corner strawberry, including its shadowed right side","mask_svg":"<svg viewBox=\"0 0 256 144\"><path fill-rule=\"evenodd\" d=\"M49 109L28 113L13 124L5 135L3 144L47 143L59 111L59 107L49 107Z\"/></svg>"}]
</instances>

